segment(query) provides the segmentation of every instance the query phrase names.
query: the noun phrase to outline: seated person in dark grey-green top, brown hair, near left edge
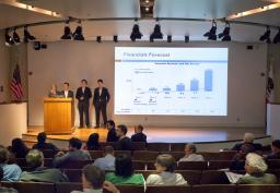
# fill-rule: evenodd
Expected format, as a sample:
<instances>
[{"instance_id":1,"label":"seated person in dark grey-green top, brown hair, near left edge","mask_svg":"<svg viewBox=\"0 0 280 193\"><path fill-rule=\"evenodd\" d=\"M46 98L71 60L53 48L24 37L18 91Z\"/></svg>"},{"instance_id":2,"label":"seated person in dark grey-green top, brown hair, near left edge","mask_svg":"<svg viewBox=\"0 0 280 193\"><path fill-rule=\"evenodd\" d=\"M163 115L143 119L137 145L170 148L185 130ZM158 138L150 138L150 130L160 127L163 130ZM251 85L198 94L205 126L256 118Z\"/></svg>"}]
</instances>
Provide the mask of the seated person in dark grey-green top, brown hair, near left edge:
<instances>
[{"instance_id":1,"label":"seated person in dark grey-green top, brown hair, near left edge","mask_svg":"<svg viewBox=\"0 0 280 193\"><path fill-rule=\"evenodd\" d=\"M21 181L33 181L33 182L68 182L68 178L61 173L60 170L44 167L44 155L37 149L32 149L26 155L26 164L28 171L23 171ZM39 191L38 191L39 192Z\"/></svg>"}]
</instances>

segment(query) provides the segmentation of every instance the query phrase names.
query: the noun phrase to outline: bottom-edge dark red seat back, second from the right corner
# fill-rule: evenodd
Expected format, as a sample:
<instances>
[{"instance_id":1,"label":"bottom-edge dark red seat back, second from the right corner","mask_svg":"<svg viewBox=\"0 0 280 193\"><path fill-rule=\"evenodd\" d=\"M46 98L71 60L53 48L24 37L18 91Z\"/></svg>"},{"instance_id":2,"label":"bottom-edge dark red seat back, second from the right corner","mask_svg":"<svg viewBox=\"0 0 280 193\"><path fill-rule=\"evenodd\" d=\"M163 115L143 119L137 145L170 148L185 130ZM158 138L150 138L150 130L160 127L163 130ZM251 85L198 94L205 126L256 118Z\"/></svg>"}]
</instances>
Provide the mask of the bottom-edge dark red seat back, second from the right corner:
<instances>
[{"instance_id":1,"label":"bottom-edge dark red seat back, second from the right corner","mask_svg":"<svg viewBox=\"0 0 280 193\"><path fill-rule=\"evenodd\" d=\"M194 185L192 193L235 193L235 184Z\"/></svg>"}]
</instances>

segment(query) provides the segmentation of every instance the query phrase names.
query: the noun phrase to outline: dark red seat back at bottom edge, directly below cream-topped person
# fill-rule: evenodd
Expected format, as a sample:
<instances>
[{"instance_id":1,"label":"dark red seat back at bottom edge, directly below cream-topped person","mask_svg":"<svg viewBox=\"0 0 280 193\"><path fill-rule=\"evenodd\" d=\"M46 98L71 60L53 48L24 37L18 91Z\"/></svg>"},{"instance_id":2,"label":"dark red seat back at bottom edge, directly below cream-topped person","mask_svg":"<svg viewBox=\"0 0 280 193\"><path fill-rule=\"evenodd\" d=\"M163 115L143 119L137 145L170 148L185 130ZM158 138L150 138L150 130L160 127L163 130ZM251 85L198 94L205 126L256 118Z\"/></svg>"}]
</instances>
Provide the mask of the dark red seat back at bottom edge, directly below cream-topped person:
<instances>
[{"instance_id":1,"label":"dark red seat back at bottom edge, directly below cream-topped person","mask_svg":"<svg viewBox=\"0 0 280 193\"><path fill-rule=\"evenodd\" d=\"M145 193L191 193L191 186L189 185L148 185Z\"/></svg>"}]
</instances>

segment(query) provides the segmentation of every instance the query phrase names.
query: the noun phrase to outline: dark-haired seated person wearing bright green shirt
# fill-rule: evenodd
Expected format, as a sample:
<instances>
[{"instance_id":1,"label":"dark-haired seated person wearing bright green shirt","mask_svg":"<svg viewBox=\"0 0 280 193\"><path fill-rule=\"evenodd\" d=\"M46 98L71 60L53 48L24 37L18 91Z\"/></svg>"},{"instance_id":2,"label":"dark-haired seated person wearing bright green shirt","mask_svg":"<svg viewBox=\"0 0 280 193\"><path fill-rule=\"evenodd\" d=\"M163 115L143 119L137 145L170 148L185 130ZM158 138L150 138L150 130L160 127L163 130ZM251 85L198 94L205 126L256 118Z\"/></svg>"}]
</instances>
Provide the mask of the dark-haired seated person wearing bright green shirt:
<instances>
[{"instance_id":1,"label":"dark-haired seated person wearing bright green shirt","mask_svg":"<svg viewBox=\"0 0 280 193\"><path fill-rule=\"evenodd\" d=\"M105 179L114 184L136 184L144 185L144 178L140 173L135 173L132 160L127 155L119 155L115 161L115 172L108 172Z\"/></svg>"}]
</instances>

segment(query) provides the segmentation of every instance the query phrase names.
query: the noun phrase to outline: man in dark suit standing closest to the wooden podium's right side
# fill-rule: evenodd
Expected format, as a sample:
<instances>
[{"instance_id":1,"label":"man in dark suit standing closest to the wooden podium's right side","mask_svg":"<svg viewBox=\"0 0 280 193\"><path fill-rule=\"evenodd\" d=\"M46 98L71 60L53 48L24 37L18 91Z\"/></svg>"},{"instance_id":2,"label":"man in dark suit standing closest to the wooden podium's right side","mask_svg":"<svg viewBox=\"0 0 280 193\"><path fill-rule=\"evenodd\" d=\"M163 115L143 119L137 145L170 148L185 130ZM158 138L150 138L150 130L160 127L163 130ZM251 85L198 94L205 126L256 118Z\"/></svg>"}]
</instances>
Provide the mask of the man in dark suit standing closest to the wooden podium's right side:
<instances>
[{"instance_id":1,"label":"man in dark suit standing closest to the wooden podium's right side","mask_svg":"<svg viewBox=\"0 0 280 193\"><path fill-rule=\"evenodd\" d=\"M85 124L86 128L90 128L90 98L92 97L92 91L88 87L88 81L81 81L81 87L77 89L75 98L78 99L78 108L80 114L80 128L83 128L83 113L85 114Z\"/></svg>"}]
</instances>

